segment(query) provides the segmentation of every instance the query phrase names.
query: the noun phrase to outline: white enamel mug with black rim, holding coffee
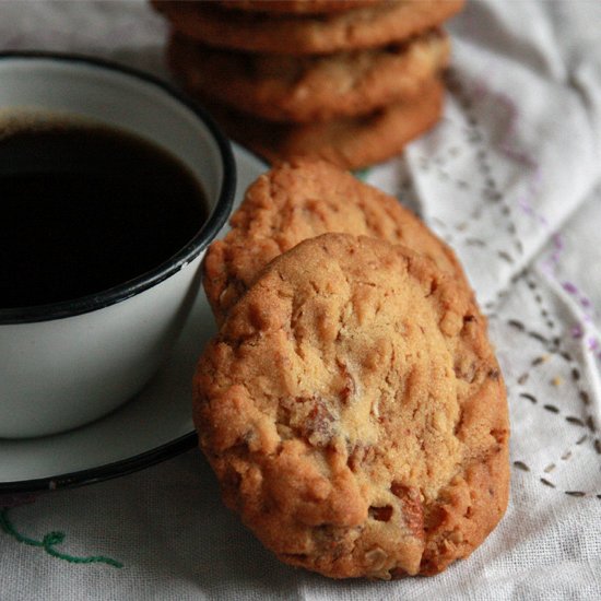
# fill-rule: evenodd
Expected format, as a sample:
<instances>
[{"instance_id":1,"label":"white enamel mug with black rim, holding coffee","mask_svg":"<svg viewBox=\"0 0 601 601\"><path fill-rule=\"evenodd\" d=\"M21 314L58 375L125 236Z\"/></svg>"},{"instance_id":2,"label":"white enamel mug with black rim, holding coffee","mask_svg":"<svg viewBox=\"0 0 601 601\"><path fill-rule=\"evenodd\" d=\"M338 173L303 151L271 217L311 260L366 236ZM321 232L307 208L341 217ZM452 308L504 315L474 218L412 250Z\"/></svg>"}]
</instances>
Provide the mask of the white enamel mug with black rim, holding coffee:
<instances>
[{"instance_id":1,"label":"white enamel mug with black rim, holding coffee","mask_svg":"<svg viewBox=\"0 0 601 601\"><path fill-rule=\"evenodd\" d=\"M229 216L236 179L229 143L210 116L130 69L66 55L0 55L0 113L11 110L83 117L154 142L198 178L210 216L176 255L122 285L0 308L0 438L78 427L142 389L195 303L202 256ZM0 297L1 290L2 282Z\"/></svg>"}]
</instances>

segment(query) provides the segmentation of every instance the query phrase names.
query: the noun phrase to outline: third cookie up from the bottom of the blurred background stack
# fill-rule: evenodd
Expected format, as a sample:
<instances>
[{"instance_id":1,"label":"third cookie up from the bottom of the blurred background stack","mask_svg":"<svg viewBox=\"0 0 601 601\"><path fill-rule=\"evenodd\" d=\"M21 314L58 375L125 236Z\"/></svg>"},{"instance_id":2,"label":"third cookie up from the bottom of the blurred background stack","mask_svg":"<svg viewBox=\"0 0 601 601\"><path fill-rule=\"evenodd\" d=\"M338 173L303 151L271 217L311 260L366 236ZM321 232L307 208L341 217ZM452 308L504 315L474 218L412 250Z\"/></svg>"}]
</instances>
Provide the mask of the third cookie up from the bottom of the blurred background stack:
<instances>
[{"instance_id":1,"label":"third cookie up from the bottom of the blurred background stack","mask_svg":"<svg viewBox=\"0 0 601 601\"><path fill-rule=\"evenodd\" d=\"M208 46L282 55L374 48L436 27L464 0L390 0L332 15L273 16L211 2L153 0L184 35Z\"/></svg>"}]
</instances>

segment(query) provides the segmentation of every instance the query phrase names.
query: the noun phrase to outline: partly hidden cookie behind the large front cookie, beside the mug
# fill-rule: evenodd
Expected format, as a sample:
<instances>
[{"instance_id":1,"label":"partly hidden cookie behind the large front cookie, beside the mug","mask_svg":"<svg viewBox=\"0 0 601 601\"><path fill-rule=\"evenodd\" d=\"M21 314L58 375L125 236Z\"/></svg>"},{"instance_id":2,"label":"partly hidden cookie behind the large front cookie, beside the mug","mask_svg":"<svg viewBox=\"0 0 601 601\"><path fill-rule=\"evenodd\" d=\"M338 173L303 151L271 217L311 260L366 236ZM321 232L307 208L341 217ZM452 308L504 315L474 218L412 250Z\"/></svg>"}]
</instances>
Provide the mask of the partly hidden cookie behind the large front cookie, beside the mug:
<instances>
[{"instance_id":1,"label":"partly hidden cookie behind the large front cookie, beside the mug","mask_svg":"<svg viewBox=\"0 0 601 601\"><path fill-rule=\"evenodd\" d=\"M453 251L399 201L322 162L295 160L261 175L204 258L203 284L217 322L257 274L298 243L338 232L402 244L469 288Z\"/></svg>"}]
</instances>

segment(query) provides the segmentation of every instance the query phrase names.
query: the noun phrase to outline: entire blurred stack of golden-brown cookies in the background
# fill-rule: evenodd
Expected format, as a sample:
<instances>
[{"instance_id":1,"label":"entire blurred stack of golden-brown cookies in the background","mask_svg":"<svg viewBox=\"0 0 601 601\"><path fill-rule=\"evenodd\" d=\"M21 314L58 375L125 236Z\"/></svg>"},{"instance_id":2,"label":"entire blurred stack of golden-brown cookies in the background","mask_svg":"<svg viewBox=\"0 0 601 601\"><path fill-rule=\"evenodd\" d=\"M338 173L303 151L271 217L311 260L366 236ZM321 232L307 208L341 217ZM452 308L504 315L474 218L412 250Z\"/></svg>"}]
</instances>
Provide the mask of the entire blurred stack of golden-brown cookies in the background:
<instances>
[{"instance_id":1,"label":"entire blurred stack of golden-brown cookies in the background","mask_svg":"<svg viewBox=\"0 0 601 601\"><path fill-rule=\"evenodd\" d=\"M271 162L384 161L439 118L463 0L153 0L174 74Z\"/></svg>"}]
</instances>

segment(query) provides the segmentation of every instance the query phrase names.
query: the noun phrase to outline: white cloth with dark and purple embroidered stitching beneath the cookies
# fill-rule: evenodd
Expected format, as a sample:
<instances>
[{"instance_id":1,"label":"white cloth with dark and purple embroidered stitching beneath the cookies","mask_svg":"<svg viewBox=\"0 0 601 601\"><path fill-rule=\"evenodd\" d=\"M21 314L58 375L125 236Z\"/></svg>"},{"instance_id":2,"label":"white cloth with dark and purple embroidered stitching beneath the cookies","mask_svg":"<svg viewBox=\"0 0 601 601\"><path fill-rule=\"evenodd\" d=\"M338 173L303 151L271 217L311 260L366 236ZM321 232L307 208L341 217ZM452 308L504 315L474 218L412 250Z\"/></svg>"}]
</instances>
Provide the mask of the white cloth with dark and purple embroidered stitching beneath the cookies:
<instances>
[{"instance_id":1,"label":"white cloth with dark and purple embroidered stitching beneath the cookies","mask_svg":"<svg viewBox=\"0 0 601 601\"><path fill-rule=\"evenodd\" d=\"M223 508L198 451L12 508L0 599L601 599L601 2L471 2L450 26L445 118L368 174L457 249L490 315L511 414L511 500L435 578L334 582L278 563ZM0 1L0 48L166 75L140 1Z\"/></svg>"}]
</instances>

